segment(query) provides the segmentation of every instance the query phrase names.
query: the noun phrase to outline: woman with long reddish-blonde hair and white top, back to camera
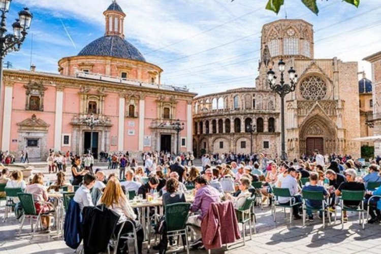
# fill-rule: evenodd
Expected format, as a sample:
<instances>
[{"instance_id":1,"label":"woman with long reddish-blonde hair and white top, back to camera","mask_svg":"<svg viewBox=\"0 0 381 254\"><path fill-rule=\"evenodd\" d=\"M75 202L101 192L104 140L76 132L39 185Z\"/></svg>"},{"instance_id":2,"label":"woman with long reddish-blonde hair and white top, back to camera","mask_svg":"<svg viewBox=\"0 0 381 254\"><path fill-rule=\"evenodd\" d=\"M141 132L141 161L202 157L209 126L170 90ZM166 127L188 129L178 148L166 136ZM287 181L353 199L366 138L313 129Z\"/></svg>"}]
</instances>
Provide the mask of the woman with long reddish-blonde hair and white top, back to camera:
<instances>
[{"instance_id":1,"label":"woman with long reddish-blonde hair and white top, back to camera","mask_svg":"<svg viewBox=\"0 0 381 254\"><path fill-rule=\"evenodd\" d=\"M115 227L115 234L117 234L120 230L120 227L123 221L130 219L133 221L136 227L137 234L137 242L138 242L138 252L142 253L142 244L144 239L143 229L140 226L138 220L136 220L137 216L134 213L134 210L131 208L128 199L123 194L122 188L120 186L120 182L116 177L110 179L106 185L105 192L101 196L98 201L99 204L105 204L107 208L113 210L114 212L120 215L118 224ZM123 229L121 230L121 234L129 233L133 231L133 227L131 223L125 223ZM117 246L117 253L125 253L126 252L127 243L125 241L119 241Z\"/></svg>"}]
</instances>

